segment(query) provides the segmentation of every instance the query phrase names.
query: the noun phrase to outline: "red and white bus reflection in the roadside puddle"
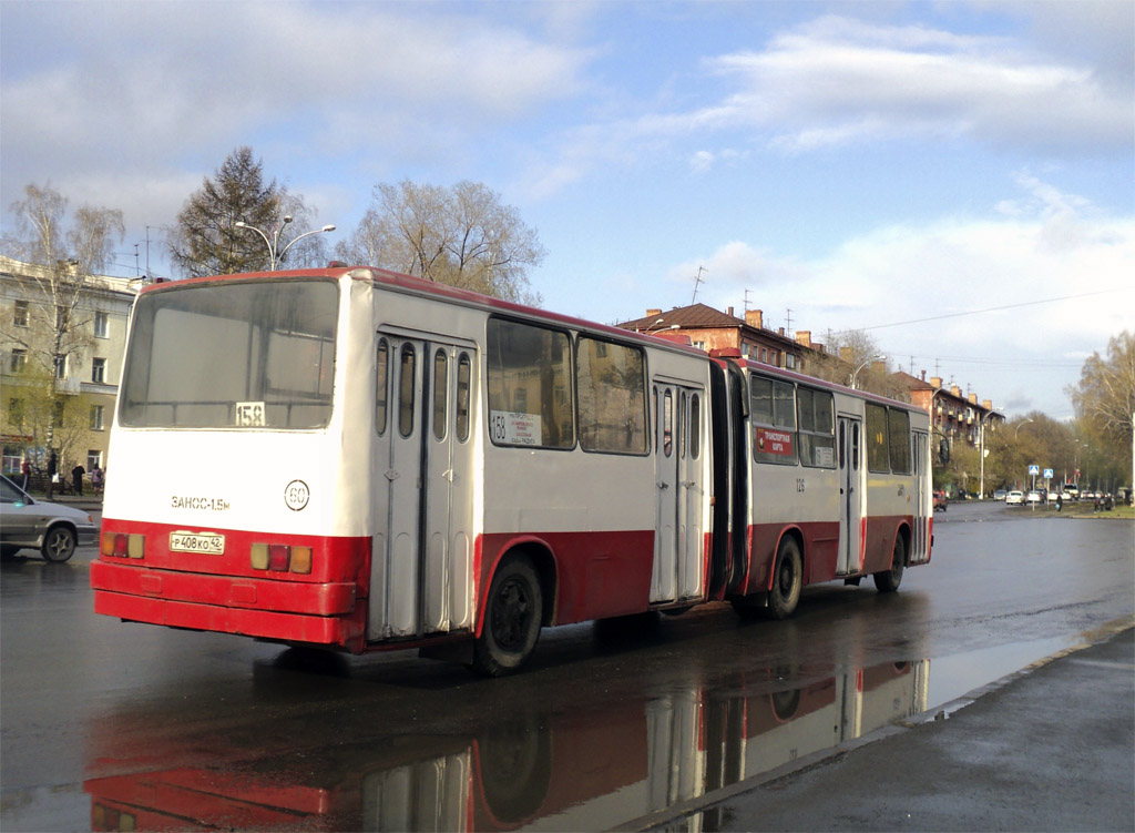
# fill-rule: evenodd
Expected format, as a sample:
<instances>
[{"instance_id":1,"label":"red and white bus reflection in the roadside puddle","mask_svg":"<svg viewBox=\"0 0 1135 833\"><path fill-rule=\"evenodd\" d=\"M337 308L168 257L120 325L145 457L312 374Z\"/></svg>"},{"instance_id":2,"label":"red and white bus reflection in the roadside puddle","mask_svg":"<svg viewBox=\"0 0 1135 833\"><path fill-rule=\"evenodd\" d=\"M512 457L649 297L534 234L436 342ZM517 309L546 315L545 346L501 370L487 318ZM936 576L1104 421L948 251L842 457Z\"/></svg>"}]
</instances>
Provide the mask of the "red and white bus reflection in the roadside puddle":
<instances>
[{"instance_id":1,"label":"red and white bus reflection in the roadside puddle","mask_svg":"<svg viewBox=\"0 0 1135 833\"><path fill-rule=\"evenodd\" d=\"M95 831L611 827L918 714L928 672L927 660L888 663L759 694L739 681L734 693L716 684L533 715L474 738L403 735L84 790Z\"/></svg>"}]
</instances>

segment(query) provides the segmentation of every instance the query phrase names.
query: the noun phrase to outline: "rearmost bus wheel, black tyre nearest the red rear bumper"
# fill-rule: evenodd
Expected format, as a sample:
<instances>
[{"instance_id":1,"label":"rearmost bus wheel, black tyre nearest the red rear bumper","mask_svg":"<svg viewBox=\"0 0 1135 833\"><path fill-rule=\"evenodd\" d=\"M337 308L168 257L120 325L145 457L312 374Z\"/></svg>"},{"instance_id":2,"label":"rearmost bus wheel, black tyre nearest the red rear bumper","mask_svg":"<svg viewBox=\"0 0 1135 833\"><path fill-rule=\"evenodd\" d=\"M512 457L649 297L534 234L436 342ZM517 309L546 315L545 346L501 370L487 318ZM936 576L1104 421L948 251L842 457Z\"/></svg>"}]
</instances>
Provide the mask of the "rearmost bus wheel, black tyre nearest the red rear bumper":
<instances>
[{"instance_id":1,"label":"rearmost bus wheel, black tyre nearest the red rear bumper","mask_svg":"<svg viewBox=\"0 0 1135 833\"><path fill-rule=\"evenodd\" d=\"M505 558L489 588L472 669L489 677L518 670L536 649L543 618L540 582L531 563L523 556Z\"/></svg>"}]
</instances>

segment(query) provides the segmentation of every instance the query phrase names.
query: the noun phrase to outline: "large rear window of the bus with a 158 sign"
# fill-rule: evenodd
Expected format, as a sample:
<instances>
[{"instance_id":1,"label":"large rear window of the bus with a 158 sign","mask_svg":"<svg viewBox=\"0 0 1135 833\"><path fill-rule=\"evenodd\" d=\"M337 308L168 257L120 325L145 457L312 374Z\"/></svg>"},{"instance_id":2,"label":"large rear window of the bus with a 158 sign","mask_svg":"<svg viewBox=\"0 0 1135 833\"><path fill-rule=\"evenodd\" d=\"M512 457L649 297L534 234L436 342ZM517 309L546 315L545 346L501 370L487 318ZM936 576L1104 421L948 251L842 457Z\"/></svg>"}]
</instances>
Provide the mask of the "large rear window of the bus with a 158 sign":
<instances>
[{"instance_id":1,"label":"large rear window of the bus with a 158 sign","mask_svg":"<svg viewBox=\"0 0 1135 833\"><path fill-rule=\"evenodd\" d=\"M142 294L119 424L326 426L337 308L333 281L217 282Z\"/></svg>"}]
</instances>

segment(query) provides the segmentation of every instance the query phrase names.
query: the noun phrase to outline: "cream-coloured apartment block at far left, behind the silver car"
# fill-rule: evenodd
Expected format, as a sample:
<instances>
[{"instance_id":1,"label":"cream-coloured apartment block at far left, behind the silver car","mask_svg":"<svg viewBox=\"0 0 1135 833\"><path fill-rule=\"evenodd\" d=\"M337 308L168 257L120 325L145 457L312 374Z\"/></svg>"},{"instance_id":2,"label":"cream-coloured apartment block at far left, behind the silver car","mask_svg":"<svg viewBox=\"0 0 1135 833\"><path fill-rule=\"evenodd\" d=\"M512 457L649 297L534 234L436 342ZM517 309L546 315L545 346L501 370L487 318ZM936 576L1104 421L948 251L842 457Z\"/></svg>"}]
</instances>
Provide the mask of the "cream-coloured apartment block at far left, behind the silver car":
<instances>
[{"instance_id":1,"label":"cream-coloured apartment block at far left, behind the silver car","mask_svg":"<svg viewBox=\"0 0 1135 833\"><path fill-rule=\"evenodd\" d=\"M47 438L42 428L26 418L28 399L33 395L23 372L32 360L30 344L50 338L36 332L37 320L44 320L44 308L51 298L44 292L42 267L0 257L0 440L3 443L3 470L18 472L31 457L42 465ZM82 425L68 426L73 439L69 466L82 464L91 470L94 464L106 468L110 424L118 399L126 326L131 307L142 282L108 275L90 275L84 280L76 313L77 327L83 330L83 344L57 364L56 390L66 397L83 397L85 413L73 419Z\"/></svg>"}]
</instances>

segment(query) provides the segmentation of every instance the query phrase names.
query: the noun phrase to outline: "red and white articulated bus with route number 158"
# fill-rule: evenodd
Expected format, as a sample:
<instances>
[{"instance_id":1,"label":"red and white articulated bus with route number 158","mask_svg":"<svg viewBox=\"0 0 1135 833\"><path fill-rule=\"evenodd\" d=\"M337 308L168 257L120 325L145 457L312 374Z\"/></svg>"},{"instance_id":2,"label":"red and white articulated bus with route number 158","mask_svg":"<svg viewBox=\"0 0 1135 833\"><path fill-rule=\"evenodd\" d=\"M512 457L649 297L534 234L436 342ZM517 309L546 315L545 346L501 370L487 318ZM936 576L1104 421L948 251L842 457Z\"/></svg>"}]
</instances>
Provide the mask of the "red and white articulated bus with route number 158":
<instances>
[{"instance_id":1,"label":"red and white articulated bus with route number 158","mask_svg":"<svg viewBox=\"0 0 1135 833\"><path fill-rule=\"evenodd\" d=\"M111 456L96 613L488 675L931 555L925 411L372 268L145 288Z\"/></svg>"}]
</instances>

